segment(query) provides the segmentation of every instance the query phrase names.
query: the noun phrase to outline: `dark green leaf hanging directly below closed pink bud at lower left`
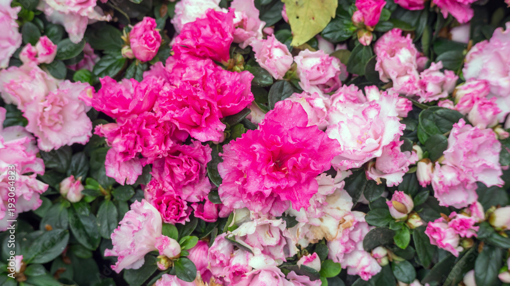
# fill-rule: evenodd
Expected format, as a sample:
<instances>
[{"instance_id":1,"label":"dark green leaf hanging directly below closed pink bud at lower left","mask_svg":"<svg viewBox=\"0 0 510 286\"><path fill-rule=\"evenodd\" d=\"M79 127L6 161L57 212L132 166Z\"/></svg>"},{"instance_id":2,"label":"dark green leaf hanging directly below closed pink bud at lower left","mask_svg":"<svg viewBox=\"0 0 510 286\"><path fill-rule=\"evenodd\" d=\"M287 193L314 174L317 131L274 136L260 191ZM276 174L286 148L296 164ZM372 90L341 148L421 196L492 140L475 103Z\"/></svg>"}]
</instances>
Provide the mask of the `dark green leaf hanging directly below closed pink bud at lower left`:
<instances>
[{"instance_id":1,"label":"dark green leaf hanging directly below closed pink bud at lower left","mask_svg":"<svg viewBox=\"0 0 510 286\"><path fill-rule=\"evenodd\" d=\"M85 215L79 210L77 204L73 204L69 215L72 235L86 248L95 250L101 240L95 216L91 213Z\"/></svg>"}]
</instances>

